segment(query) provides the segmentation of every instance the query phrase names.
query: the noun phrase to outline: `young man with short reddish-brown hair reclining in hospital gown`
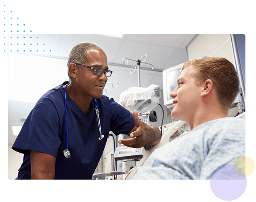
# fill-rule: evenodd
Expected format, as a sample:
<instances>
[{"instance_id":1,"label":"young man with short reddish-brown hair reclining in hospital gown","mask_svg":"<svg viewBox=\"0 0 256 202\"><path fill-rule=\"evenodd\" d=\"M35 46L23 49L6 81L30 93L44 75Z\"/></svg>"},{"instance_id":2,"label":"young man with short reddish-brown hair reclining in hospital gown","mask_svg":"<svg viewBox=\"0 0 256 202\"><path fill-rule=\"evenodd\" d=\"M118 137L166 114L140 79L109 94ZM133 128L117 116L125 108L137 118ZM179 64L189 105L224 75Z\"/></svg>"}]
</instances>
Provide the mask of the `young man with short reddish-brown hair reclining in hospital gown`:
<instances>
[{"instance_id":1,"label":"young man with short reddish-brown hair reclining in hospital gown","mask_svg":"<svg viewBox=\"0 0 256 202\"><path fill-rule=\"evenodd\" d=\"M209 180L218 166L245 156L245 119L227 117L239 81L225 58L185 62L171 92L172 116L190 132L156 149L132 180Z\"/></svg>"}]
</instances>

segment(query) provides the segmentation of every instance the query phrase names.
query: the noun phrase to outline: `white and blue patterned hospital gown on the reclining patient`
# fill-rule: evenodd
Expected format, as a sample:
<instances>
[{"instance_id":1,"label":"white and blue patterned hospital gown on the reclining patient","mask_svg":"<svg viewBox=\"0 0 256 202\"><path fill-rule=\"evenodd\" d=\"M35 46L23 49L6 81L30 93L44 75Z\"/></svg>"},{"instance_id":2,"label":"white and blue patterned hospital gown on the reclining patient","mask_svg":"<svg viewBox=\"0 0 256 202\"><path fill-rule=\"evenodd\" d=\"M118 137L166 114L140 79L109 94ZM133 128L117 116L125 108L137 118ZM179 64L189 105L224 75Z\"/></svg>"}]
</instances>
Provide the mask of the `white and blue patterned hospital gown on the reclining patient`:
<instances>
[{"instance_id":1,"label":"white and blue patterned hospital gown on the reclining patient","mask_svg":"<svg viewBox=\"0 0 256 202\"><path fill-rule=\"evenodd\" d=\"M132 180L210 180L218 166L240 156L245 156L245 119L215 119L156 149Z\"/></svg>"}]
</instances>

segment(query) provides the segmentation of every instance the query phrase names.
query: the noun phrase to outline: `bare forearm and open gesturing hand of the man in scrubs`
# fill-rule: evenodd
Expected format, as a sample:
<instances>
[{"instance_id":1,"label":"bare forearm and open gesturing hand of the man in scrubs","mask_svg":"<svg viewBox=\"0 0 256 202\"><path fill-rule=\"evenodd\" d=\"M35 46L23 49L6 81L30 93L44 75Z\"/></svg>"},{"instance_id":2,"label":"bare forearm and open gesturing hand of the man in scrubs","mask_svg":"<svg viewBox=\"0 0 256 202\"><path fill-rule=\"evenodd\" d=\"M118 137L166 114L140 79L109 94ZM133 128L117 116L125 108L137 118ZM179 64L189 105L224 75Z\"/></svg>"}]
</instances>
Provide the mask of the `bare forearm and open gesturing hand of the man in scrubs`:
<instances>
[{"instance_id":1,"label":"bare forearm and open gesturing hand of the man in scrubs","mask_svg":"<svg viewBox=\"0 0 256 202\"><path fill-rule=\"evenodd\" d=\"M159 129L140 121L136 110L133 112L133 119L135 121L135 127L127 134L131 138L118 140L118 143L122 143L127 147L140 148L146 145L155 145L161 140Z\"/></svg>"}]
</instances>

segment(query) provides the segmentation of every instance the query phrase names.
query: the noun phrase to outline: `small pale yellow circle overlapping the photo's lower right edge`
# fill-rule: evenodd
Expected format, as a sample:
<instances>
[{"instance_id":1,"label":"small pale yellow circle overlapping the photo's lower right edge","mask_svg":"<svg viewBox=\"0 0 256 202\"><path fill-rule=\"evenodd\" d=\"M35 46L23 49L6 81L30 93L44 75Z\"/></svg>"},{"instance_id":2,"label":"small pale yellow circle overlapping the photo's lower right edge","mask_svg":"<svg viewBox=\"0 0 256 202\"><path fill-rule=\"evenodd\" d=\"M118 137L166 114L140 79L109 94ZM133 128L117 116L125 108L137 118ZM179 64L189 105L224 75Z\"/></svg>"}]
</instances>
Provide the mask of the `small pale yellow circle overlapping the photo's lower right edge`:
<instances>
[{"instance_id":1,"label":"small pale yellow circle overlapping the photo's lower right edge","mask_svg":"<svg viewBox=\"0 0 256 202\"><path fill-rule=\"evenodd\" d=\"M245 173L245 176L247 177L251 175L255 169L255 164L252 161L252 158L248 156L241 156L237 158L234 165L236 165L234 166L234 170L239 176L242 176L241 170L243 171L243 175Z\"/></svg>"}]
</instances>

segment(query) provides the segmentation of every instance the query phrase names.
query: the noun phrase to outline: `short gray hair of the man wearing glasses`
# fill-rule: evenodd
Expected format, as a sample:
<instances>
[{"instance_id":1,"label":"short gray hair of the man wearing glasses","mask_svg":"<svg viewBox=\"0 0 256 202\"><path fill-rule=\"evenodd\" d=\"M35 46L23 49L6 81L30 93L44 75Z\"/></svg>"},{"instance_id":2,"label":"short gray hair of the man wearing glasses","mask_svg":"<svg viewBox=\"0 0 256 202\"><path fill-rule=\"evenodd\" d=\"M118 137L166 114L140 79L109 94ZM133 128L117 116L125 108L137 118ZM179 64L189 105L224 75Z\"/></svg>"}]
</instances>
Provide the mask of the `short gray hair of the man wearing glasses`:
<instances>
[{"instance_id":1,"label":"short gray hair of the man wearing glasses","mask_svg":"<svg viewBox=\"0 0 256 202\"><path fill-rule=\"evenodd\" d=\"M99 48L102 49L99 45L91 43L91 42L82 42L79 44L76 44L72 50L69 53L68 56L68 77L69 82L71 81L71 77L69 75L69 65L71 63L79 63L84 64L87 61L87 51L91 48ZM102 49L103 50L103 49ZM82 69L82 67L78 66L79 70Z\"/></svg>"}]
</instances>

